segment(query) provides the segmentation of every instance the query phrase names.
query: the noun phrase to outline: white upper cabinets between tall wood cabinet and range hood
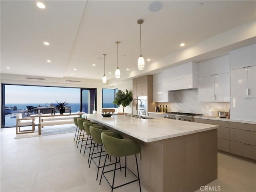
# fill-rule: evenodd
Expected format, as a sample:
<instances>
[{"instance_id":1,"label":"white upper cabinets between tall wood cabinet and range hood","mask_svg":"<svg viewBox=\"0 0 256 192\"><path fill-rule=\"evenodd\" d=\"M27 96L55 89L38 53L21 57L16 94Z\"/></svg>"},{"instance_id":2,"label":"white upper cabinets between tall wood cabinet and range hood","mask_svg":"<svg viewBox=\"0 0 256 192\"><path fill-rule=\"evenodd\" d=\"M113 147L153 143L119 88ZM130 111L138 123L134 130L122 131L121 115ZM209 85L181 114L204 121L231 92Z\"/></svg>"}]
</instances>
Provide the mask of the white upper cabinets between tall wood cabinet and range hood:
<instances>
[{"instance_id":1,"label":"white upper cabinets between tall wood cabinet and range hood","mask_svg":"<svg viewBox=\"0 0 256 192\"><path fill-rule=\"evenodd\" d=\"M153 102L174 102L174 92L164 91L163 73L153 75Z\"/></svg>"}]
</instances>

